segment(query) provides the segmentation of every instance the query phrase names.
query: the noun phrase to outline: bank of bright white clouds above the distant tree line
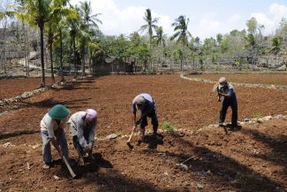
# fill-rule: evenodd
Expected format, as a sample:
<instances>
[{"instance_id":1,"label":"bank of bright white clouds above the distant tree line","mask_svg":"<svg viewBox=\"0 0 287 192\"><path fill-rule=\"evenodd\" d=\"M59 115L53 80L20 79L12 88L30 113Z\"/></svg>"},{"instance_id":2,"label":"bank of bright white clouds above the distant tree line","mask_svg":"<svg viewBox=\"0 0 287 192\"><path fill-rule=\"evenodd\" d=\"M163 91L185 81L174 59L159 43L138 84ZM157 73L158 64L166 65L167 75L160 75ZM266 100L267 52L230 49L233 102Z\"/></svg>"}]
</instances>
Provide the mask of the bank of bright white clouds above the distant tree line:
<instances>
[{"instance_id":1,"label":"bank of bright white clouds above the distant tree line","mask_svg":"<svg viewBox=\"0 0 287 192\"><path fill-rule=\"evenodd\" d=\"M72 4L79 4L79 0L71 0ZM102 20L100 29L105 35L129 35L134 31L139 31L145 25L143 19L147 7L141 5L131 5L119 8L113 0L93 0L91 1L93 13L102 13L98 19ZM189 31L193 36L200 36L200 39L217 34L227 34L233 29L242 30L246 28L246 20L256 18L261 25L265 26L265 35L275 31L276 25L287 15L287 6L283 4L270 4L266 12L253 12L249 15L231 14L228 17L220 18L220 13L202 12L200 15L186 15L190 18ZM162 26L164 34L172 35L173 28L169 15L164 15L152 9L153 18L159 18L157 25ZM196 19L197 18L197 19ZM220 18L220 19L219 19Z\"/></svg>"}]
</instances>

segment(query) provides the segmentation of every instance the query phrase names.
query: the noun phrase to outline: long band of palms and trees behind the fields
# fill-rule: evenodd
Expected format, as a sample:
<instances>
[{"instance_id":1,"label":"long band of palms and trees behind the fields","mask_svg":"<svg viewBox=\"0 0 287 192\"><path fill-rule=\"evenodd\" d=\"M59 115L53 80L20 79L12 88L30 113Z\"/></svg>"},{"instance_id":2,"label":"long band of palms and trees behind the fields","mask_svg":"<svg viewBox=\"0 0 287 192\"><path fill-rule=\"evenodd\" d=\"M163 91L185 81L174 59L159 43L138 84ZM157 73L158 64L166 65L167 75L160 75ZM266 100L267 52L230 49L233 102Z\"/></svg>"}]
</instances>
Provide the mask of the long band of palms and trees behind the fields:
<instances>
[{"instance_id":1,"label":"long band of palms and trees behind the fields","mask_svg":"<svg viewBox=\"0 0 287 192\"><path fill-rule=\"evenodd\" d=\"M247 30L200 39L188 30L189 19L178 16L170 25L174 34L165 35L153 18L150 9L144 12L145 25L130 35L104 35L99 25L101 13L92 14L87 0L72 6L68 0L4 0L0 4L2 36L0 42L1 68L12 50L26 58L26 75L29 75L29 53L40 50L42 86L45 86L45 69L49 69L53 82L54 71L68 72L74 77L93 73L96 63L114 57L122 62L133 62L144 70L156 71L162 66L170 69L179 65L184 70L203 70L206 65L258 65L264 58L265 67L286 65L287 20L282 19L274 35L264 36L264 26L255 18L246 21ZM270 57L275 58L270 63ZM95 69L96 70L96 69Z\"/></svg>"}]
</instances>

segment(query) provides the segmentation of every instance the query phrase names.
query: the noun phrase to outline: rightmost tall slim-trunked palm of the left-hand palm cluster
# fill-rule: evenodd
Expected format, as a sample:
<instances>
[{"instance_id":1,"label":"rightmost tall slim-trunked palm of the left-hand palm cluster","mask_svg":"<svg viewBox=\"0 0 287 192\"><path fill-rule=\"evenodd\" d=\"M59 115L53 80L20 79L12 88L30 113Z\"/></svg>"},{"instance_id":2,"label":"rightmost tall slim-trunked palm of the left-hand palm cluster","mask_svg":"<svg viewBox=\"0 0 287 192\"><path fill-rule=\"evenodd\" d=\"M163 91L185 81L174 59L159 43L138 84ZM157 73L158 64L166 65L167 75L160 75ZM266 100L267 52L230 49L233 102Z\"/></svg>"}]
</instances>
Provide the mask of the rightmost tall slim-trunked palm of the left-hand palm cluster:
<instances>
[{"instance_id":1,"label":"rightmost tall slim-trunked palm of the left-hand palm cluster","mask_svg":"<svg viewBox=\"0 0 287 192\"><path fill-rule=\"evenodd\" d=\"M87 2L87 0L85 0L84 2L80 2L79 3L80 6L79 6L79 13L82 17L82 19L84 20L84 23L86 26L82 25L82 29L83 30L86 30L87 34L88 34L88 30L90 27L90 23L92 23L92 27L95 27L95 28L99 28L99 26L97 25L97 23L100 23L102 24L102 21L100 19L97 19L97 17L99 15L101 15L101 13L97 13L97 14L94 14L92 15L92 8L91 8L91 2ZM84 35L82 37L82 58L83 58L83 61L82 61L82 76L85 76L85 55L86 55L86 47L87 47L87 38L88 35ZM89 51L87 51L89 52ZM89 58L90 60L91 58Z\"/></svg>"}]
</instances>

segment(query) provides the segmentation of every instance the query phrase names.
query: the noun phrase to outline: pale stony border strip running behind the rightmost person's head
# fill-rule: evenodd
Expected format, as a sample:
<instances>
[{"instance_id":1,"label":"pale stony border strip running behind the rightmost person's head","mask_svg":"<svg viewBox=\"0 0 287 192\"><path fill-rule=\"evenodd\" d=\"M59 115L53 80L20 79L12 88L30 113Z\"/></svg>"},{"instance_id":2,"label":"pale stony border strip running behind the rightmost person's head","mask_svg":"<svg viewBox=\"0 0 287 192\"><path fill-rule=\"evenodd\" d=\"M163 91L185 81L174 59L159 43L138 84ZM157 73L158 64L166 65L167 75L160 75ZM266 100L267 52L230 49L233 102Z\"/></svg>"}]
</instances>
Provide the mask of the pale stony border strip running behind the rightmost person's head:
<instances>
[{"instance_id":1,"label":"pale stony border strip running behind the rightmost person's head","mask_svg":"<svg viewBox=\"0 0 287 192\"><path fill-rule=\"evenodd\" d=\"M181 74L180 77L185 79L185 80L189 80L189 81L198 81L198 82L206 82L206 83L217 83L217 81L211 81L211 80L200 79L200 78L185 77L185 74ZM287 86L286 85L266 85L266 84L240 83L240 82L230 82L230 83L232 85L248 87L248 88L271 88L271 89L287 90Z\"/></svg>"}]
</instances>

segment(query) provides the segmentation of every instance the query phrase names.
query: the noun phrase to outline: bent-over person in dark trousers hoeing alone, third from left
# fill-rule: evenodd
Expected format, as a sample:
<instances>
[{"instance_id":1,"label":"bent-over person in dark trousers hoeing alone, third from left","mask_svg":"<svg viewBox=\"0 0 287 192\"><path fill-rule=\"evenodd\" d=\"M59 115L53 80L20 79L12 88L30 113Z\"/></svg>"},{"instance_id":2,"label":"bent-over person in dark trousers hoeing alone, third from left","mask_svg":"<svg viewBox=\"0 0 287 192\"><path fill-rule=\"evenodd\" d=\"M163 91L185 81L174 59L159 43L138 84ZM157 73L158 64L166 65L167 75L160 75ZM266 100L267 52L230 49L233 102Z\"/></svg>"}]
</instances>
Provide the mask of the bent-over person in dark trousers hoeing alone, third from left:
<instances>
[{"instance_id":1,"label":"bent-over person in dark trousers hoeing alone, third from left","mask_svg":"<svg viewBox=\"0 0 287 192\"><path fill-rule=\"evenodd\" d=\"M136 120L137 110L140 111L140 119L138 120ZM155 111L155 100L147 93L142 93L139 96L134 97L132 100L132 128L140 125L140 142L145 141L145 127L147 126L147 117L152 119L154 135L156 136L158 120Z\"/></svg>"}]
</instances>

